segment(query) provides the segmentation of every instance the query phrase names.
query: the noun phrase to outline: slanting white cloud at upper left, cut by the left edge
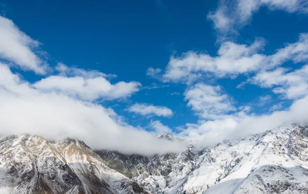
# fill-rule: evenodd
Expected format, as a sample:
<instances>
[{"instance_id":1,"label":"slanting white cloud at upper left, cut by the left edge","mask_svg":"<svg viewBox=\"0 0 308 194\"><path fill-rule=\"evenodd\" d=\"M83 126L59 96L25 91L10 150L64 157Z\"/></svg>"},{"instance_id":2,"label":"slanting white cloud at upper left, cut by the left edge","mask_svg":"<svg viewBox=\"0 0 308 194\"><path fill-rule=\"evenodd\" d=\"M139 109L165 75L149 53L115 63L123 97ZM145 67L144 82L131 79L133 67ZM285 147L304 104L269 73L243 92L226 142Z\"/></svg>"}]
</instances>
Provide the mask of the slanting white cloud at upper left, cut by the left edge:
<instances>
[{"instance_id":1,"label":"slanting white cloud at upper left, cut by the left edge","mask_svg":"<svg viewBox=\"0 0 308 194\"><path fill-rule=\"evenodd\" d=\"M0 16L0 57L24 70L45 74L48 64L34 52L40 43L32 40L8 18Z\"/></svg>"}]
</instances>

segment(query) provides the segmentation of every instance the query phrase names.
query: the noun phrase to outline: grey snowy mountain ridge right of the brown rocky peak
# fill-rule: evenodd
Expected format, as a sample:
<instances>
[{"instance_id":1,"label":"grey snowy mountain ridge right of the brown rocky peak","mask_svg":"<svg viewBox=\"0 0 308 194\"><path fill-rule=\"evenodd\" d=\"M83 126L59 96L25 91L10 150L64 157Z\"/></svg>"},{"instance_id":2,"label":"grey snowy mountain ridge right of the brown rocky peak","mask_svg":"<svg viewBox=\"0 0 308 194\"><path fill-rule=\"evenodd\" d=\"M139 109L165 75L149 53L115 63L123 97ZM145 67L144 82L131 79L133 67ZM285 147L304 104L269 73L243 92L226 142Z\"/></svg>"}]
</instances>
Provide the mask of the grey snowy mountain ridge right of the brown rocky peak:
<instances>
[{"instance_id":1,"label":"grey snowy mountain ridge right of the brown rocky peak","mask_svg":"<svg viewBox=\"0 0 308 194\"><path fill-rule=\"evenodd\" d=\"M308 193L307 126L282 126L200 150L188 144L182 153L163 156L96 152L153 193Z\"/></svg>"}]
</instances>

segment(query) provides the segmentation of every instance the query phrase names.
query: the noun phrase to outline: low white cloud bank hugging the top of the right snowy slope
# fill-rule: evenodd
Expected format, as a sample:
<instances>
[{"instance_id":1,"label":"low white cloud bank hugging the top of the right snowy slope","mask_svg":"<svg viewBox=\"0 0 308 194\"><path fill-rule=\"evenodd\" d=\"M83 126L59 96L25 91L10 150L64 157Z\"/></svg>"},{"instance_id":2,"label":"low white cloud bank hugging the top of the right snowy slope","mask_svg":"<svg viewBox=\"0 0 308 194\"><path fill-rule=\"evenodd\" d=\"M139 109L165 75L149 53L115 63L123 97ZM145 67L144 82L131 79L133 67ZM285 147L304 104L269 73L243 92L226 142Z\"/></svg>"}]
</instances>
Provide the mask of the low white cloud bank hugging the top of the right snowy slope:
<instances>
[{"instance_id":1,"label":"low white cloud bank hugging the top of the right snowy slope","mask_svg":"<svg viewBox=\"0 0 308 194\"><path fill-rule=\"evenodd\" d=\"M197 147L214 145L223 140L243 138L247 135L274 129L280 125L308 122L308 95L296 100L288 110L274 111L262 115L242 115L242 117L186 124L178 135L195 140Z\"/></svg>"}]
</instances>

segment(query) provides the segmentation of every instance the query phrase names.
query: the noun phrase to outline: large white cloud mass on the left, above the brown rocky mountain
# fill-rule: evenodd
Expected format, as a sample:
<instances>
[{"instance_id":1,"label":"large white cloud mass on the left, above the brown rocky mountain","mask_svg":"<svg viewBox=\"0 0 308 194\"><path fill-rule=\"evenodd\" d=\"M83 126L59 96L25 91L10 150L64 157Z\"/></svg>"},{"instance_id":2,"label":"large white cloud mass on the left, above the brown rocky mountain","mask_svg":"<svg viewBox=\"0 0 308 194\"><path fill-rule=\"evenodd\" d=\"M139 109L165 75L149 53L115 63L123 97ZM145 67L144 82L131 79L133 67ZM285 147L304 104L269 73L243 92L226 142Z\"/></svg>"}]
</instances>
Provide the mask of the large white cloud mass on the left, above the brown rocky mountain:
<instances>
[{"instance_id":1,"label":"large white cloud mass on the left, above the brown rocky mountain","mask_svg":"<svg viewBox=\"0 0 308 194\"><path fill-rule=\"evenodd\" d=\"M93 149L119 150L124 153L162 154L185 148L180 142L159 139L142 128L128 125L112 109L95 100L128 98L139 91L139 82L111 84L104 73L57 65L55 75L29 83L10 70L20 66L46 74L52 69L33 51L40 43L21 32L12 21L0 17L0 38L10 47L1 47L0 133L42 135L47 139L77 138ZM4 35L8 35L4 37ZM11 52L14 50L14 52ZM7 62L7 63L5 63ZM114 75L111 75L114 77ZM158 108L158 111L160 109ZM162 115L172 115L170 109ZM154 111L155 113L159 113Z\"/></svg>"}]
</instances>

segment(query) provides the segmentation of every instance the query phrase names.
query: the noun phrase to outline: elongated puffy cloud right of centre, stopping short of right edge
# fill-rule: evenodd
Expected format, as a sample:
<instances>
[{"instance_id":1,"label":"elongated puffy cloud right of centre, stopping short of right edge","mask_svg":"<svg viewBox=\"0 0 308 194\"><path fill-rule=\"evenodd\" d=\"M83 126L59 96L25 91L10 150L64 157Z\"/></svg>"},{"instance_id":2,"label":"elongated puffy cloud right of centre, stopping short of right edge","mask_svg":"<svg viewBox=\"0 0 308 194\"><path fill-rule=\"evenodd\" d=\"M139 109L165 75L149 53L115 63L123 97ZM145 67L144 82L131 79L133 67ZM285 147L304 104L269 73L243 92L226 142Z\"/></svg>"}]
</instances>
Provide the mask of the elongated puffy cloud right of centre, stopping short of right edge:
<instances>
[{"instance_id":1,"label":"elongated puffy cloud right of centre, stopping short of right edge","mask_svg":"<svg viewBox=\"0 0 308 194\"><path fill-rule=\"evenodd\" d=\"M263 46L264 40L259 38L249 46L225 42L219 48L218 56L192 51L179 57L172 55L162 80L191 84L202 76L236 76L255 71L265 59L257 53Z\"/></svg>"}]
</instances>

